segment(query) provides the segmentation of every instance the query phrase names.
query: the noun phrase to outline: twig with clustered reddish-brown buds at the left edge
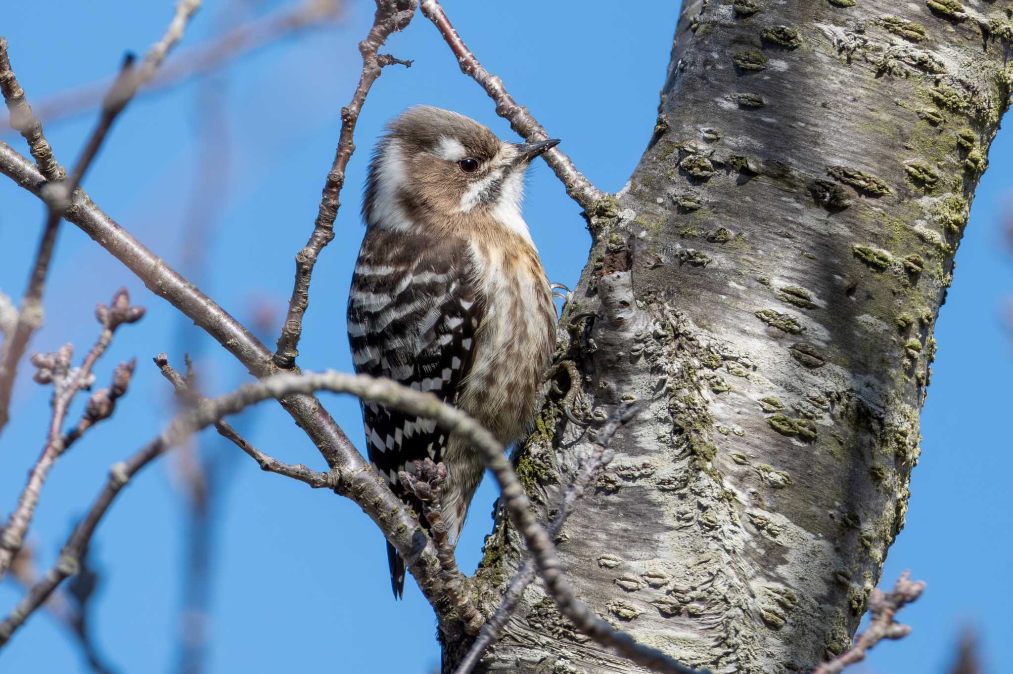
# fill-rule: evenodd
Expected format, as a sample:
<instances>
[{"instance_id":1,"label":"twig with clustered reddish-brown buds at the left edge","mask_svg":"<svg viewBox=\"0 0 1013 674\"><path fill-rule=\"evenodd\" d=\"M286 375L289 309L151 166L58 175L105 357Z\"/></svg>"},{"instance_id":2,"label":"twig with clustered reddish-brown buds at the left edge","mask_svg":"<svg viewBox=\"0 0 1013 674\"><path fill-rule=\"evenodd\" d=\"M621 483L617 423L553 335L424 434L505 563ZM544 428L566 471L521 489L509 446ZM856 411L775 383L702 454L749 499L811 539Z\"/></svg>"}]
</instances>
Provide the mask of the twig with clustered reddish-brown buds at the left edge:
<instances>
[{"instance_id":1,"label":"twig with clustered reddish-brown buds at the left edge","mask_svg":"<svg viewBox=\"0 0 1013 674\"><path fill-rule=\"evenodd\" d=\"M73 348L70 344L63 346L56 353L32 356L32 363L38 368L34 376L35 382L53 384L53 415L43 453L28 473L28 482L18 499L17 508L11 513L7 526L0 534L0 578L3 578L14 556L21 549L24 534L34 515L43 485L46 483L53 465L85 430L95 422L111 415L115 399L126 393L131 373L134 371L133 363L116 367L112 388L109 391L96 392L88 402L84 417L77 427L64 434L63 423L67 418L70 403L79 390L86 389L91 385L94 380L94 375L91 373L92 367L112 342L112 335L116 328L125 323L135 323L142 316L144 316L144 309L131 307L130 296L127 294L126 289L121 288L112 297L109 307L99 304L95 308L95 317L102 325L102 332L79 368L70 367L73 354Z\"/></svg>"}]
</instances>

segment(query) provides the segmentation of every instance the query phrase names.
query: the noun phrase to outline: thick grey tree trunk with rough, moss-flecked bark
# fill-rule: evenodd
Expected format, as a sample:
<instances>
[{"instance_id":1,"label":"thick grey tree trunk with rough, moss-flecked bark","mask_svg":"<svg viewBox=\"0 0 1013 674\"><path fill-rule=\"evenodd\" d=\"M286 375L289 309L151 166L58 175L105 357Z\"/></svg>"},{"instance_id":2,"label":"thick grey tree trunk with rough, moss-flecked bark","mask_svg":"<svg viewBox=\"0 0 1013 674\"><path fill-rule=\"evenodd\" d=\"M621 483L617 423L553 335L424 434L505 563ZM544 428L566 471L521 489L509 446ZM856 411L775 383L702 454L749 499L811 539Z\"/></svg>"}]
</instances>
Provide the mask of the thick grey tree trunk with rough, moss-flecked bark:
<instances>
[{"instance_id":1,"label":"thick grey tree trunk with rough, moss-flecked bark","mask_svg":"<svg viewBox=\"0 0 1013 674\"><path fill-rule=\"evenodd\" d=\"M644 407L559 541L603 617L715 672L847 648L904 525L934 322L1009 100L1011 11L687 3L657 125L590 214L560 324L577 413ZM543 515L583 431L560 400L517 459ZM485 610L517 567L510 529L474 583ZM447 646L449 665L465 645ZM639 671L538 586L483 667Z\"/></svg>"}]
</instances>

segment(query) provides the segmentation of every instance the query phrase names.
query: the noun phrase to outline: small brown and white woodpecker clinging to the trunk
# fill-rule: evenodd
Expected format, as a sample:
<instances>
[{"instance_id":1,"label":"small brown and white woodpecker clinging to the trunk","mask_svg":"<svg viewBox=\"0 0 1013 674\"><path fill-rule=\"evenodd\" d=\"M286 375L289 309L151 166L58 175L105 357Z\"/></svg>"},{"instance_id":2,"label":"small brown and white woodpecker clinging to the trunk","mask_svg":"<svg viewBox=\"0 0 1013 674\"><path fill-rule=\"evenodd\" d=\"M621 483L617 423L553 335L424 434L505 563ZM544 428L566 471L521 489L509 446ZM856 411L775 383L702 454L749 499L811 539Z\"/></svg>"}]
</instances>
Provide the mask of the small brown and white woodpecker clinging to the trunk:
<instances>
[{"instance_id":1,"label":"small brown and white woodpecker clinging to the trunk","mask_svg":"<svg viewBox=\"0 0 1013 674\"><path fill-rule=\"evenodd\" d=\"M558 143L506 143L464 115L412 107L388 124L366 183L348 293L356 371L431 392L503 445L530 428L555 344L552 289L521 198L530 162ZM426 456L445 464L443 518L456 543L481 459L431 419L362 407L370 461L416 513L398 472ZM404 560L389 542L387 557L400 598Z\"/></svg>"}]
</instances>

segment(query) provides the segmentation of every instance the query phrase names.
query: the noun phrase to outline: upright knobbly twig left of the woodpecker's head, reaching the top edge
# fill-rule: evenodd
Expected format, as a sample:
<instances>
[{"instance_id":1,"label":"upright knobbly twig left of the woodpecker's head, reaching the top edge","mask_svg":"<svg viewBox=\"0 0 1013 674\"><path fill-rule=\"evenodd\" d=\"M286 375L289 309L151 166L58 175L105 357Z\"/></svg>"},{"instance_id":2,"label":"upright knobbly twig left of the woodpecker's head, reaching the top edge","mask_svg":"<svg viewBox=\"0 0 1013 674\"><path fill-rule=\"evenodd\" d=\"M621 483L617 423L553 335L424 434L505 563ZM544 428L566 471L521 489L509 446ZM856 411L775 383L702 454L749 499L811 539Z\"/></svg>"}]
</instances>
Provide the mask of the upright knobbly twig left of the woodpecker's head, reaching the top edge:
<instances>
[{"instance_id":1,"label":"upright knobbly twig left of the woodpecker's head, reaching the top edge","mask_svg":"<svg viewBox=\"0 0 1013 674\"><path fill-rule=\"evenodd\" d=\"M327 173L323 186L320 207L313 232L306 246L296 255L296 280L292 288L292 299L289 301L289 313L282 326L282 334L278 338L275 351L275 364L284 369L292 369L299 355L299 338L303 331L303 315L309 306L310 278L317 256L324 246L334 238L334 219L341 202L338 197L344 185L344 170L356 151L356 122L362 112L363 104L370 88L384 66L394 63L411 66L410 61L402 61L391 56L377 56L377 52L387 41L392 32L404 29L415 14L418 0L377 0L377 11L366 39L359 43L359 52L363 55L363 73L359 85L352 95L352 102L341 108L341 134L337 142L334 162Z\"/></svg>"}]
</instances>

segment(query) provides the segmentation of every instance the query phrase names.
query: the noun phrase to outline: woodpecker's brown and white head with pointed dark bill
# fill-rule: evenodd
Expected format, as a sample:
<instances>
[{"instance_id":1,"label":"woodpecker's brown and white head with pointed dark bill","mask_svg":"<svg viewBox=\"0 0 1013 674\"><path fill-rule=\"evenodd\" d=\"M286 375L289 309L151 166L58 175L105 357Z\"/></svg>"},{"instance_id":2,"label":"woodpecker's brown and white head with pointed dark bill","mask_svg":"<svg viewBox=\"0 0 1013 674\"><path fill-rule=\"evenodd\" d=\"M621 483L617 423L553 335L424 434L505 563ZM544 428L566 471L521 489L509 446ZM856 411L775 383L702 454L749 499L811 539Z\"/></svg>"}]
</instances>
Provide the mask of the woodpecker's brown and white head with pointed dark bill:
<instances>
[{"instance_id":1,"label":"woodpecker's brown and white head with pointed dark bill","mask_svg":"<svg viewBox=\"0 0 1013 674\"><path fill-rule=\"evenodd\" d=\"M363 217L370 227L392 231L460 226L475 216L523 227L524 172L558 143L506 143L463 114L408 108L377 145Z\"/></svg>"}]
</instances>

